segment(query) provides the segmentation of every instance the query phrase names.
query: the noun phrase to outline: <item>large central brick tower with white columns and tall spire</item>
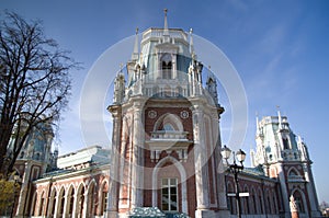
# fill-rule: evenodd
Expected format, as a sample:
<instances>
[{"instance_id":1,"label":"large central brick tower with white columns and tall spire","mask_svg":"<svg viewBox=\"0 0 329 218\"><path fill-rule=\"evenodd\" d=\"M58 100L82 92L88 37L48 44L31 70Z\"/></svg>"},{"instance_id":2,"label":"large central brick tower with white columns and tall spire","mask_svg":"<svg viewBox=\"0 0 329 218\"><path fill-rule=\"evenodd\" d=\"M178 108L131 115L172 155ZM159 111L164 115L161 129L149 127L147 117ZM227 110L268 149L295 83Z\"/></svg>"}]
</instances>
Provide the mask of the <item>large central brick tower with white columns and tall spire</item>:
<instances>
[{"instance_id":1,"label":"large central brick tower with white columns and tall spire","mask_svg":"<svg viewBox=\"0 0 329 218\"><path fill-rule=\"evenodd\" d=\"M114 81L110 217L158 207L191 217L227 213L216 79L203 72L192 30L138 32ZM206 82L203 83L203 77Z\"/></svg>"}]
</instances>

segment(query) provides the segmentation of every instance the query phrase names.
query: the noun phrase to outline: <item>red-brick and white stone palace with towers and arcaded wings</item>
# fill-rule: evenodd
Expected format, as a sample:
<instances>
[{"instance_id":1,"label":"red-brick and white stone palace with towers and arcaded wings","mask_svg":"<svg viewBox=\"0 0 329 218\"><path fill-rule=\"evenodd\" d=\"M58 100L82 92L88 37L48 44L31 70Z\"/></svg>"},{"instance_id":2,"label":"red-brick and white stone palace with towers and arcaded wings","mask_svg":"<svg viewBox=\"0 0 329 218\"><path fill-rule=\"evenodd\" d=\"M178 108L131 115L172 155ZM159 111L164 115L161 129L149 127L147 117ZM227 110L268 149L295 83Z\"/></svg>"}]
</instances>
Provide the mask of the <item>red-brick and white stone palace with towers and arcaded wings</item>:
<instances>
[{"instance_id":1,"label":"red-brick and white stone palace with towers and arcaded wings","mask_svg":"<svg viewBox=\"0 0 329 218\"><path fill-rule=\"evenodd\" d=\"M192 32L169 28L166 14L164 26L146 30L140 44L136 34L132 50L107 107L112 149L58 157L53 135L38 144L32 137L15 165L18 217L237 217L234 175L218 170L226 163L217 80L204 72ZM307 146L287 117L257 121L256 148L253 165L238 175L248 193L242 216L294 217L294 203L298 217L320 217Z\"/></svg>"}]
</instances>

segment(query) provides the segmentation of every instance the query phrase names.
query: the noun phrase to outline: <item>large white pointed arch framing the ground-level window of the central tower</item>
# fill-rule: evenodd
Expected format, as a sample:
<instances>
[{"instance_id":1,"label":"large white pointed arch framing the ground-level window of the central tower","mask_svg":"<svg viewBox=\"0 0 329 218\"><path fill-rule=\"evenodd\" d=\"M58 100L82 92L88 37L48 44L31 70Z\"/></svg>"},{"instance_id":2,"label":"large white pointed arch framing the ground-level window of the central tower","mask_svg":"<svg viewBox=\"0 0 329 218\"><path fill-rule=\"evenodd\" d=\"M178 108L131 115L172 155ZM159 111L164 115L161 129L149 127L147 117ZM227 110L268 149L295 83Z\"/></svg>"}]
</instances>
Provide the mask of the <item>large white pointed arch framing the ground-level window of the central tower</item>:
<instances>
[{"instance_id":1,"label":"large white pointed arch framing the ground-level window of the central tower","mask_svg":"<svg viewBox=\"0 0 329 218\"><path fill-rule=\"evenodd\" d=\"M186 191L186 172L184 167L182 165L181 162L179 162L177 159L168 156L163 159L161 159L157 165L154 168L152 171L152 206L157 207L158 206L158 175L159 175L159 170L168 162L173 163L173 165L178 169L180 173L180 182L181 182L181 203L182 203L182 208L181 210L185 214L188 214L188 191Z\"/></svg>"}]
</instances>

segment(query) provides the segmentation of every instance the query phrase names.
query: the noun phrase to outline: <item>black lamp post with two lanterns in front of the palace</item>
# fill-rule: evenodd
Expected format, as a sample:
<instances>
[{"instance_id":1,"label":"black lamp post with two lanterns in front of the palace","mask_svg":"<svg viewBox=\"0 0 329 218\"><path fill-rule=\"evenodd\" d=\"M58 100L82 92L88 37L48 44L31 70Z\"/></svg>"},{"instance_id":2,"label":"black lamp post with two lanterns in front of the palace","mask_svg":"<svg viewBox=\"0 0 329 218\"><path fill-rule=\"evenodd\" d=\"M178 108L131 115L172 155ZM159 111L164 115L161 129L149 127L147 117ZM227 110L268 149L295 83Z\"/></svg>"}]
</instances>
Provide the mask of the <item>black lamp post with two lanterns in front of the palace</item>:
<instances>
[{"instance_id":1,"label":"black lamp post with two lanterns in front of the palace","mask_svg":"<svg viewBox=\"0 0 329 218\"><path fill-rule=\"evenodd\" d=\"M229 164L228 159L230 157L230 153L232 152L234 163ZM239 149L237 152L231 151L226 146L222 149L222 157L225 159L226 164L229 167L229 171L235 176L235 184L236 184L236 203L237 203L237 216L238 218L241 218L241 211L240 211L240 192L239 192L239 179L238 174L243 170L243 161L246 159L246 153L241 149ZM237 163L236 159L240 162L240 164Z\"/></svg>"}]
</instances>

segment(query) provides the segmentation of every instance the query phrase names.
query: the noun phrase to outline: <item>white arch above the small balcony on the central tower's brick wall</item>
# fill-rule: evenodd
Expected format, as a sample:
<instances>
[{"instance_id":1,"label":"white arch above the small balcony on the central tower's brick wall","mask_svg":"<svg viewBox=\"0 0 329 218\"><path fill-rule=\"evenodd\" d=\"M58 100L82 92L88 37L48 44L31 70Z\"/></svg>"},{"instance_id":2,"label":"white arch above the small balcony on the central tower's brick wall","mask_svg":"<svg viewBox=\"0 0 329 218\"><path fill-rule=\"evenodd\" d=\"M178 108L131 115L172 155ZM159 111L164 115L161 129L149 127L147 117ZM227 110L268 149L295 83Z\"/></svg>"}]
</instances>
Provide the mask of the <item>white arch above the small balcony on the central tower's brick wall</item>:
<instances>
[{"instance_id":1,"label":"white arch above the small balcony on the central tower's brick wall","mask_svg":"<svg viewBox=\"0 0 329 218\"><path fill-rule=\"evenodd\" d=\"M175 131L184 130L183 124L177 115L166 113L162 116L160 116L158 118L158 121L156 122L156 124L154 126L154 131L166 130L164 129L166 125L171 125L173 130L175 130Z\"/></svg>"}]
</instances>

